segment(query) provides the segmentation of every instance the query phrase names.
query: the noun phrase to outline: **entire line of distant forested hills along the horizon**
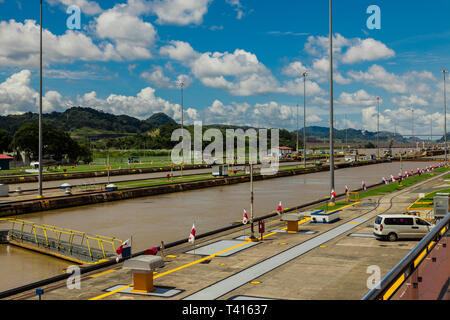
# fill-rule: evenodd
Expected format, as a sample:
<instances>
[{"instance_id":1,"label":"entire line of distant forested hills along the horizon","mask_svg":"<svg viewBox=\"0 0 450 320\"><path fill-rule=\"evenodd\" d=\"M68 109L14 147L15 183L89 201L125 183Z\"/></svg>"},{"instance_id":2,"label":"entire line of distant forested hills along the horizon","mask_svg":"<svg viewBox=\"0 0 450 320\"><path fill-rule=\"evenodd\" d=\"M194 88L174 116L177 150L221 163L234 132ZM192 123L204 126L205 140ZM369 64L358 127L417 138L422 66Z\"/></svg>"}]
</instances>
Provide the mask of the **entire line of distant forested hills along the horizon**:
<instances>
[{"instance_id":1,"label":"entire line of distant forested hills along the horizon","mask_svg":"<svg viewBox=\"0 0 450 320\"><path fill-rule=\"evenodd\" d=\"M0 128L9 131L11 135L13 135L22 125L36 122L38 122L38 114L31 112L21 115L0 116ZM139 120L126 115L118 116L101 110L83 107L73 107L64 112L44 114L44 123L55 129L64 130L73 137L89 137L94 140L143 134L154 131L157 128L163 128L164 136L167 135L170 140L169 133L172 132L172 127L177 125L175 120L164 113L155 113L146 120ZM208 128L217 128L220 130L241 128L247 130L251 127L222 124L204 125L204 129ZM283 132L283 135L280 135L280 139L283 138L286 140L286 144L288 141L295 144L296 131L289 133L288 131L283 130ZM329 134L330 129L327 127L311 126L306 128L306 135L309 141L316 140L319 142L327 140ZM303 136L303 129L299 130L299 136ZM390 141L394 136L395 142L397 143L411 143L418 140L417 137L414 139L407 139L400 134L394 135L392 132L382 131L379 134L379 141ZM369 141L376 141L377 133L350 128L347 130L335 129L334 137L336 141L340 142L345 142L347 140L349 143L366 143ZM443 141L443 138L441 141Z\"/></svg>"}]
</instances>

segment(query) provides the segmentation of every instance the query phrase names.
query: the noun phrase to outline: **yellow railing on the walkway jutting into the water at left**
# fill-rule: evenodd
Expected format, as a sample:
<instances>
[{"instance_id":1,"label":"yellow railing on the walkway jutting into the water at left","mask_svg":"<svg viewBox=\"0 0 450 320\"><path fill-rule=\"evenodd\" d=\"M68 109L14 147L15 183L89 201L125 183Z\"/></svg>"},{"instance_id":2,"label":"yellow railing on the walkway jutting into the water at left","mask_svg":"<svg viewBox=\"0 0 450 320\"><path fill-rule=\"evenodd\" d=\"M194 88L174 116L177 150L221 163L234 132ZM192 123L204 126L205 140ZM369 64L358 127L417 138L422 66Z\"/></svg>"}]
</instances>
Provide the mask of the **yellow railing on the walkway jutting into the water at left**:
<instances>
[{"instance_id":1,"label":"yellow railing on the walkway jutting into the water at left","mask_svg":"<svg viewBox=\"0 0 450 320\"><path fill-rule=\"evenodd\" d=\"M116 252L117 245L122 244L122 240L113 238L113 237L105 237L101 235L88 235L85 232L61 228L57 226L51 225L39 225L32 221L15 219L15 218L1 218L0 223L10 223L11 230L19 232L19 238L22 240L25 232L34 235L34 242L38 243L38 236L43 236L45 239L46 246L49 246L49 239L54 239L56 241L56 248L59 249L61 247L61 241L66 240L69 243L69 252L72 252L73 245L82 246L84 241L86 240L86 246L89 251L89 257L92 259L92 249L96 248L101 250L103 258L106 258L106 250L109 249L107 246L111 246L112 252ZM50 235L54 235L54 238L50 238ZM67 239L64 239L66 237ZM92 242L94 242L97 247L93 246Z\"/></svg>"}]
</instances>

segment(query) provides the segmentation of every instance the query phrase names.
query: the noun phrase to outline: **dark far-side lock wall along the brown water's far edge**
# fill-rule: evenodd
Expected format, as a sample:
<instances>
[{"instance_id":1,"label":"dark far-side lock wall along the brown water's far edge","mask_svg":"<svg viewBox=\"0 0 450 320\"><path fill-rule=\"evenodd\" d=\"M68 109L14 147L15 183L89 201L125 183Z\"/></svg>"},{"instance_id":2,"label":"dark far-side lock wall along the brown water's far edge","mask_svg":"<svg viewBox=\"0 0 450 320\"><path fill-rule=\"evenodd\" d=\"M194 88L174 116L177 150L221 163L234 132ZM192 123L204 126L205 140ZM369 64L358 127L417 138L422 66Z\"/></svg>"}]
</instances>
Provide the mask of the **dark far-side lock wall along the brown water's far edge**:
<instances>
[{"instance_id":1,"label":"dark far-side lock wall along the brown water's far edge","mask_svg":"<svg viewBox=\"0 0 450 320\"><path fill-rule=\"evenodd\" d=\"M336 169L348 168L348 167L359 167L364 165L371 165L377 163L389 162L387 160L372 160L364 163L341 163L335 165ZM329 171L329 166L314 167L307 169L293 169L280 171L276 175L272 176L262 176L255 175L253 179L255 181L273 179L278 177L288 177L293 175L300 175L306 173L314 173L320 171ZM133 199L139 197L147 197L158 194L182 192L188 190L196 190L202 188L216 187L232 185L237 183L249 182L249 176L239 176L239 177L227 177L214 180L203 180L194 182L182 182L177 184L154 186L154 187L142 187L122 191L109 191L109 192L93 192L90 194L81 194L73 196L61 196L46 198L41 200L25 200L21 202L12 202L0 204L0 217L14 216L31 212L45 211L45 210L55 210L63 209L69 207L83 206L89 204L96 204L109 201L118 201L125 199Z\"/></svg>"}]
</instances>

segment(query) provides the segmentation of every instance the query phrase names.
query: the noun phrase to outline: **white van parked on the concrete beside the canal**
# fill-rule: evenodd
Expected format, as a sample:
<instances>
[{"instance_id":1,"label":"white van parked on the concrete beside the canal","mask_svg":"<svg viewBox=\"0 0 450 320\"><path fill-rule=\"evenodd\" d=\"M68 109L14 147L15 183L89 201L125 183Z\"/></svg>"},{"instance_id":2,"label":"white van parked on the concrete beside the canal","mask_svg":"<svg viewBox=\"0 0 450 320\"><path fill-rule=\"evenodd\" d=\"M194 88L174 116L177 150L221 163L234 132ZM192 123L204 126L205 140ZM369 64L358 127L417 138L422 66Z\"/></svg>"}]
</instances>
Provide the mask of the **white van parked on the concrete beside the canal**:
<instances>
[{"instance_id":1,"label":"white van parked on the concrete beside the canal","mask_svg":"<svg viewBox=\"0 0 450 320\"><path fill-rule=\"evenodd\" d=\"M405 214L379 215L375 219L373 234L377 239L396 241L397 239L423 238L434 225L418 216Z\"/></svg>"}]
</instances>

